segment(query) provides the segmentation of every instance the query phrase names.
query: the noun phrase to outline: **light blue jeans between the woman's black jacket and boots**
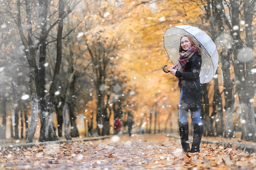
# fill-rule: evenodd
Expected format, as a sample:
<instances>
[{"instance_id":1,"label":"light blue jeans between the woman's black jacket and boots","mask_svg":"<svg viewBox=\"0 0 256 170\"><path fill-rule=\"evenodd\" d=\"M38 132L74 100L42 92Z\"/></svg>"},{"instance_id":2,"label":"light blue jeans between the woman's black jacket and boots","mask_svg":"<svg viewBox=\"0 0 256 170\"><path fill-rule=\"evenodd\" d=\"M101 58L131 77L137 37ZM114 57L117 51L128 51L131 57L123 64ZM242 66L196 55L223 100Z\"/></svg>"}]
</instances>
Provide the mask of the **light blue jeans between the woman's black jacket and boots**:
<instances>
[{"instance_id":1,"label":"light blue jeans between the woman's black jacket and boots","mask_svg":"<svg viewBox=\"0 0 256 170\"><path fill-rule=\"evenodd\" d=\"M182 98L182 89L180 91L180 102L179 102L179 121L180 122L187 122L188 121L188 114L190 111L191 114L191 119L193 121L193 124L199 124L202 125L202 121L201 121L201 109L198 108L197 110L189 110L188 108L182 108L180 107L180 103L181 103L181 98Z\"/></svg>"}]
</instances>

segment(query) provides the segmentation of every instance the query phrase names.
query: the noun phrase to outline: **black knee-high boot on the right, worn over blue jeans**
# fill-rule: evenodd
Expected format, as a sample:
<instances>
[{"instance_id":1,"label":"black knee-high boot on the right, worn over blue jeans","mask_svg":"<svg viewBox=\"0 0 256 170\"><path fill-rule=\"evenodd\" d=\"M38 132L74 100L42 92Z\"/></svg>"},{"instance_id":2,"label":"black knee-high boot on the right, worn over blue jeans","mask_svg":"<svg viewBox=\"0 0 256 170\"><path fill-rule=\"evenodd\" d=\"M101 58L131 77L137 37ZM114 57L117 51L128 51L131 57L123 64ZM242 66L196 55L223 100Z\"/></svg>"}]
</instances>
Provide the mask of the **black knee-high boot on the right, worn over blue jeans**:
<instances>
[{"instance_id":1,"label":"black knee-high boot on the right, worn over blue jeans","mask_svg":"<svg viewBox=\"0 0 256 170\"><path fill-rule=\"evenodd\" d=\"M200 126L198 124L194 124L194 135L193 135L193 143L191 150L189 152L200 152L200 142L202 139L202 133L203 133L203 126Z\"/></svg>"}]
</instances>

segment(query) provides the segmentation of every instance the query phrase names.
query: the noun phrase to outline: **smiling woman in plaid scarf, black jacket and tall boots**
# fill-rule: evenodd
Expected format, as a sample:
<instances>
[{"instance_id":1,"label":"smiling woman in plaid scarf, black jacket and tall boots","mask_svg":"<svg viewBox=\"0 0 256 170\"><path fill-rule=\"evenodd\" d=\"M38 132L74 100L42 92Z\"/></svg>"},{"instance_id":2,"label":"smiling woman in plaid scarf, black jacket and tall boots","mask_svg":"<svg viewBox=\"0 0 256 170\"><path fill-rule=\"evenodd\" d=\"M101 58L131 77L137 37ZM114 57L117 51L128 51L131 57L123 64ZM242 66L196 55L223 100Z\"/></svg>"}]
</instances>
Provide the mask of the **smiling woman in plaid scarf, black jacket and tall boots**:
<instances>
[{"instance_id":1,"label":"smiling woman in plaid scarf, black jacket and tall boots","mask_svg":"<svg viewBox=\"0 0 256 170\"><path fill-rule=\"evenodd\" d=\"M201 50L191 35L180 38L180 57L178 64L171 66L168 71L178 77L180 87L179 129L182 152L200 152L202 139L202 121L200 117L202 105L202 86L199 79L201 68ZM192 148L189 147L188 113L194 124Z\"/></svg>"}]
</instances>

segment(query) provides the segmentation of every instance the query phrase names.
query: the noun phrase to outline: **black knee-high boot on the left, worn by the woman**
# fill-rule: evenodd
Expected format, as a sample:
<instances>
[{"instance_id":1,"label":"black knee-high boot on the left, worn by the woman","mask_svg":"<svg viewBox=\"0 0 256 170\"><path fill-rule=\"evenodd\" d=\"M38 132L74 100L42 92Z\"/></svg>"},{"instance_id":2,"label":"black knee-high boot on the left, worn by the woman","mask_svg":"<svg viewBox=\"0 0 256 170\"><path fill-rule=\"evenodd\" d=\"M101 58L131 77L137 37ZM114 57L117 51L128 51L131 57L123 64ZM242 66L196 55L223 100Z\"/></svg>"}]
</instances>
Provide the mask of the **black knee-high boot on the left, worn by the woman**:
<instances>
[{"instance_id":1,"label":"black knee-high boot on the left, worn by the woman","mask_svg":"<svg viewBox=\"0 0 256 170\"><path fill-rule=\"evenodd\" d=\"M180 122L180 141L182 145L182 152L189 152L189 124L188 122Z\"/></svg>"}]
</instances>

